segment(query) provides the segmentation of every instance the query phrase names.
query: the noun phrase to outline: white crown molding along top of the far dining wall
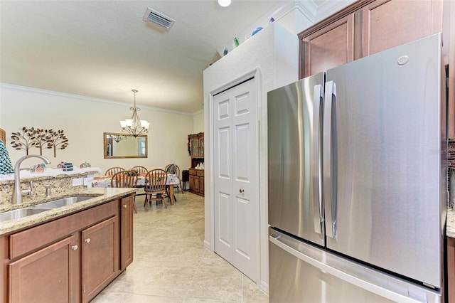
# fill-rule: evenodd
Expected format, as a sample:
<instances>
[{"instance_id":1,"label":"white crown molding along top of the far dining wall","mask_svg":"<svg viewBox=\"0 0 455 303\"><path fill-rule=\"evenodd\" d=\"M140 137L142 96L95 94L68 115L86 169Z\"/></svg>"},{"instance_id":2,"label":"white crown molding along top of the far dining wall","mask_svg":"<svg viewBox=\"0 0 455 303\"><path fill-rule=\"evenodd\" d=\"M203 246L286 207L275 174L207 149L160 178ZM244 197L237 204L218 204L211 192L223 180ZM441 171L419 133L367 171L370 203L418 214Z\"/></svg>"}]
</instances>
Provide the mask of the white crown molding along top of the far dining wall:
<instances>
[{"instance_id":1,"label":"white crown molding along top of the far dining wall","mask_svg":"<svg viewBox=\"0 0 455 303\"><path fill-rule=\"evenodd\" d=\"M94 98L94 97L87 97L87 96L82 96L82 95L68 94L66 92L55 92L53 90L42 90L40 88L26 87L26 86L14 85L14 84L8 84L8 83L0 83L0 88L9 88L11 90L34 92L34 93L38 93L38 94L42 94L42 95L54 95L54 96L68 97L68 98L78 99L78 100L85 100L85 101L90 101L90 102L101 102L101 103L109 103L112 105L121 105L121 106L131 107L131 104L126 103L126 102L118 102L118 101L99 99L99 98ZM141 109L145 108L147 110L153 110L154 112L166 112L169 114L186 115L186 116L193 116L196 114L196 113L190 113L190 112L178 112L176 110L164 110L159 107L151 107L151 106L146 106L146 105L140 105L140 106L141 106Z\"/></svg>"}]
</instances>

